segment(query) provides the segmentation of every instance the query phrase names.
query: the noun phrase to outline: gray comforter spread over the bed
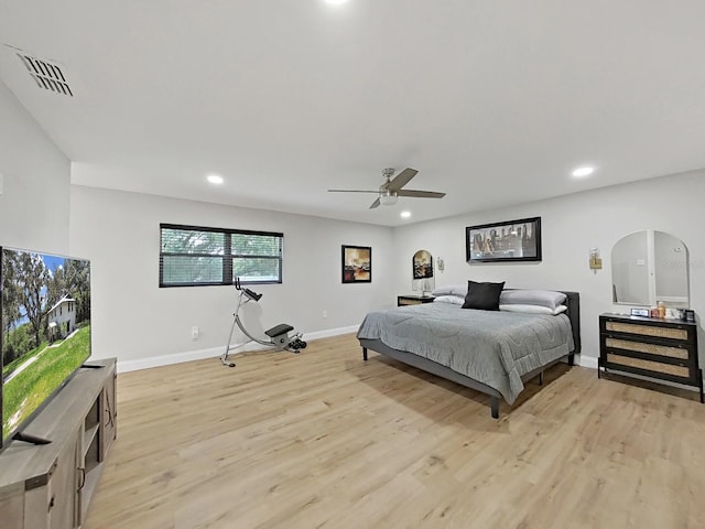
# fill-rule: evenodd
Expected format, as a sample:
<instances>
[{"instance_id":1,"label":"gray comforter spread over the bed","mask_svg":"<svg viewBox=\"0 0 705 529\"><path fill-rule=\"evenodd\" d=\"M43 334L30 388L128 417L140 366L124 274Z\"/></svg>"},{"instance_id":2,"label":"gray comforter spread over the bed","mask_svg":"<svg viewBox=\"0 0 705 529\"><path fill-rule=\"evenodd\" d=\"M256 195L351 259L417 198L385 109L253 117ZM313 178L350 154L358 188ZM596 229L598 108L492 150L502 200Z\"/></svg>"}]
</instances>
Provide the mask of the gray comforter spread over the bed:
<instances>
[{"instance_id":1,"label":"gray comforter spread over the bed","mask_svg":"<svg viewBox=\"0 0 705 529\"><path fill-rule=\"evenodd\" d=\"M564 314L476 311L451 303L371 312L357 336L449 367L497 389L510 404L524 388L522 375L574 348Z\"/></svg>"}]
</instances>

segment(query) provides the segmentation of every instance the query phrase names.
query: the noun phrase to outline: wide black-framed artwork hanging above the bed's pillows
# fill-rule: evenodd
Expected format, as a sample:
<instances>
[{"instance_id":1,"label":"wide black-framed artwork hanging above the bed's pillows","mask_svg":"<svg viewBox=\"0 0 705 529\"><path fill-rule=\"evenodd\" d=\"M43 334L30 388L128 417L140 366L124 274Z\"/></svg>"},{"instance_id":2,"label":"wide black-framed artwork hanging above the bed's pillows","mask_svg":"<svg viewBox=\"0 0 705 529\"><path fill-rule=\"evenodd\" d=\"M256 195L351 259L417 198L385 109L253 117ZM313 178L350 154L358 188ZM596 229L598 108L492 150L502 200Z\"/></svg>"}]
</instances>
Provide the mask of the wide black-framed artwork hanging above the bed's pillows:
<instances>
[{"instance_id":1,"label":"wide black-framed artwork hanging above the bed's pillows","mask_svg":"<svg viewBox=\"0 0 705 529\"><path fill-rule=\"evenodd\" d=\"M468 262L540 261L541 217L465 228Z\"/></svg>"}]
</instances>

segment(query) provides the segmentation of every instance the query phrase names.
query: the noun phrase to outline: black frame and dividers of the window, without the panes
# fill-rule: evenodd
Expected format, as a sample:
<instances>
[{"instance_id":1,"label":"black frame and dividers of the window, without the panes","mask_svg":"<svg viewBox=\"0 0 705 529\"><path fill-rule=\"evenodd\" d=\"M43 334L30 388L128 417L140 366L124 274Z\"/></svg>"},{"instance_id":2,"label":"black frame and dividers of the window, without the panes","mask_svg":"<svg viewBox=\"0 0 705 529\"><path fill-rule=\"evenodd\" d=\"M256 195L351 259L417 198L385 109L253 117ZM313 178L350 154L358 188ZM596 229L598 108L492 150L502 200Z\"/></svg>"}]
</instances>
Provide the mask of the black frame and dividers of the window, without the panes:
<instances>
[{"instance_id":1,"label":"black frame and dividers of the window, without the panes","mask_svg":"<svg viewBox=\"0 0 705 529\"><path fill-rule=\"evenodd\" d=\"M164 230L177 229L182 231L207 231L213 234L224 235L224 251L223 253L186 253L186 252L172 252L164 251ZM252 253L234 253L232 252L232 236L246 235L246 236L262 236L262 237L276 237L279 239L279 257L265 256L265 255L252 255ZM234 259L242 258L256 258L256 259L273 259L279 261L279 278L276 280L252 280L246 277L240 278L242 284L281 284L284 274L284 234L280 231L262 231L252 229L234 229L234 228L214 228L208 226L193 226L184 224L170 224L160 223L159 225L159 288L171 289L180 287L223 287L235 284L232 276L232 261ZM164 282L164 257L185 257L185 258L218 258L223 260L223 281L213 282Z\"/></svg>"}]
</instances>

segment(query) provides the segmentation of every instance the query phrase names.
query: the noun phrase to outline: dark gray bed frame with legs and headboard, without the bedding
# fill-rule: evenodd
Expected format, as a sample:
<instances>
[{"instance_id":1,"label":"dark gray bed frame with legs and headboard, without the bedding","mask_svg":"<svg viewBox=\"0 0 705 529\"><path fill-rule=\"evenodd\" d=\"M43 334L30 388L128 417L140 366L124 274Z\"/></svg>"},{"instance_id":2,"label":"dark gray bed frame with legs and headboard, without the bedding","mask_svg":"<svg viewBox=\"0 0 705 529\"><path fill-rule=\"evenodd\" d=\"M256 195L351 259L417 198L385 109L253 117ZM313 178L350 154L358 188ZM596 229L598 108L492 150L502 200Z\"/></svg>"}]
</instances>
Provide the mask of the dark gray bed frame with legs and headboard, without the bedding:
<instances>
[{"instance_id":1,"label":"dark gray bed frame with legs and headboard, without the bedding","mask_svg":"<svg viewBox=\"0 0 705 529\"><path fill-rule=\"evenodd\" d=\"M530 380L534 377L539 377L539 384L543 384L543 371L545 369L564 359L567 359L568 365L573 366L575 364L575 355L581 352L581 295L577 292L561 292L567 295L565 304L567 305L568 310L565 312L565 314L567 314L568 319L571 320L571 328L573 330L573 342L575 344L575 348L568 355L528 373L527 375L521 377L523 381ZM364 360L367 360L368 349L375 350L384 356L389 356L390 358L408 364L412 367L416 367L438 377L457 382L460 386L465 386L467 388L480 391L481 393L489 395L489 406L492 418L499 419L499 399L502 398L502 396L495 388L490 388L482 382L454 371L453 369L443 366L437 361L430 360L427 358L414 355L413 353L408 353L405 350L393 349L392 347L384 345L379 339L359 338L359 342L362 346Z\"/></svg>"}]
</instances>

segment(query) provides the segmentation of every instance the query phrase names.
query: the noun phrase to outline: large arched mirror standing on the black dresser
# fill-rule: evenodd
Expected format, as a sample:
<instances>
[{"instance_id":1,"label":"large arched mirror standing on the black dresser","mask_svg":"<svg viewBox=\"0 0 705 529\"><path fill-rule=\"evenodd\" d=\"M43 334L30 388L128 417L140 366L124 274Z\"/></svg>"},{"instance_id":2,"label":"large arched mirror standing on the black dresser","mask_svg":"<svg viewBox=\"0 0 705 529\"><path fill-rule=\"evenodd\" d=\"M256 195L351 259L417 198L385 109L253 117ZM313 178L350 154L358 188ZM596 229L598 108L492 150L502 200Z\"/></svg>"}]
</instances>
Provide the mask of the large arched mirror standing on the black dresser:
<instances>
[{"instance_id":1,"label":"large arched mirror standing on the black dresser","mask_svg":"<svg viewBox=\"0 0 705 529\"><path fill-rule=\"evenodd\" d=\"M615 303L690 306L687 248L681 239L653 229L637 231L617 241L611 261Z\"/></svg>"}]
</instances>

